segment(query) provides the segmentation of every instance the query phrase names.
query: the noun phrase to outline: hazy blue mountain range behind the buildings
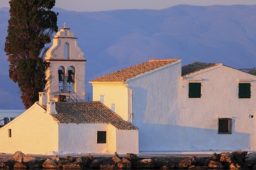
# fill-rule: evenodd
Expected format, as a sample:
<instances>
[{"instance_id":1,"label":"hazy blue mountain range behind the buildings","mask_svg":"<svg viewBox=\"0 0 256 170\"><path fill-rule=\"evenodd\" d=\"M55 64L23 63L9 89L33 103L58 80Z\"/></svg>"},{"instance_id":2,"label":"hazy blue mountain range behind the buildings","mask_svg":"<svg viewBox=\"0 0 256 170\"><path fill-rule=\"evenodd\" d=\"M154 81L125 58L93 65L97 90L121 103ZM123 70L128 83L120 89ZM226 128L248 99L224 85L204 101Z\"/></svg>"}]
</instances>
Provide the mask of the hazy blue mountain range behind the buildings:
<instances>
[{"instance_id":1,"label":"hazy blue mountain range behind the buildings","mask_svg":"<svg viewBox=\"0 0 256 170\"><path fill-rule=\"evenodd\" d=\"M152 58L180 58L256 67L256 5L190 6L162 10L70 12L55 8L85 52L86 91L96 76ZM19 89L9 80L4 42L9 9L0 8L0 108L22 108Z\"/></svg>"}]
</instances>

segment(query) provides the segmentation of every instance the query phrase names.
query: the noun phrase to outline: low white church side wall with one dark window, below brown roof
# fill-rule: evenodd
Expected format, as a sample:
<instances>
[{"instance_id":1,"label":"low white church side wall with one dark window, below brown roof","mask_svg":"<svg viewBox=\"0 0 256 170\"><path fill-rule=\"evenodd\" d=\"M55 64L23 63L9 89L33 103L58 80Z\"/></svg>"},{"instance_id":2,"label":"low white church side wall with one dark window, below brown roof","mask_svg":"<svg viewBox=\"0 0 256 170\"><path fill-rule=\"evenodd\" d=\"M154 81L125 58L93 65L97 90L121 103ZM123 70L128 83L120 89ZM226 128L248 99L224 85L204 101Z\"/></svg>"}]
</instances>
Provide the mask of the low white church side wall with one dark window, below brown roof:
<instances>
[{"instance_id":1,"label":"low white church side wall with one dark window, below brown roof","mask_svg":"<svg viewBox=\"0 0 256 170\"><path fill-rule=\"evenodd\" d=\"M97 144L97 131L106 131L106 144ZM60 124L60 154L113 154L115 151L137 153L137 130L118 130L112 124Z\"/></svg>"}]
</instances>

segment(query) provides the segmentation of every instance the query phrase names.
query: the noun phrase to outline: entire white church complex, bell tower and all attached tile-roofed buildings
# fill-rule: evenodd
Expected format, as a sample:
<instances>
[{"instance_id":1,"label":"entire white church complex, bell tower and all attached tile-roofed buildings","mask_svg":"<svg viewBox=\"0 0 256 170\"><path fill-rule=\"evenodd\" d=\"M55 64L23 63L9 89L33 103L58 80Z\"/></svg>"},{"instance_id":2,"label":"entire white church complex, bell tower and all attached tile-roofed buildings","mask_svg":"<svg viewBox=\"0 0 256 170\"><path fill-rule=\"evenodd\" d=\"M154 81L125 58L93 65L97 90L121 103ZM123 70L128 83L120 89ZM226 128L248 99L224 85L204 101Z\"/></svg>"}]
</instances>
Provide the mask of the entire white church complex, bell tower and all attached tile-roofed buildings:
<instances>
[{"instance_id":1,"label":"entire white church complex, bell tower and all attached tile-roofed buildings","mask_svg":"<svg viewBox=\"0 0 256 170\"><path fill-rule=\"evenodd\" d=\"M168 153L256 150L256 76L221 63L150 59L91 80L71 29L47 51L46 92L0 128L0 152ZM89 70L88 70L89 71Z\"/></svg>"}]
</instances>

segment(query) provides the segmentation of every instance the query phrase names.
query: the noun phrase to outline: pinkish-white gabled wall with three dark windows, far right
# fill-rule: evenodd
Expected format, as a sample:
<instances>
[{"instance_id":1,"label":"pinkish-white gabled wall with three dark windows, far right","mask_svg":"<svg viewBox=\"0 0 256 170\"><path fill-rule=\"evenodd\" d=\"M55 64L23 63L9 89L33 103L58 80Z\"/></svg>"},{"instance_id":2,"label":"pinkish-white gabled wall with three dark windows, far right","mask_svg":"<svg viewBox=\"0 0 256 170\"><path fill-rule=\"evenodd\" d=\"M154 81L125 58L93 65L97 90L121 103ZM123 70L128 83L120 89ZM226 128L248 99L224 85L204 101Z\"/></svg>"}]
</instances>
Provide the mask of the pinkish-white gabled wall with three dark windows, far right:
<instances>
[{"instance_id":1,"label":"pinkish-white gabled wall with three dark windows, far right","mask_svg":"<svg viewBox=\"0 0 256 170\"><path fill-rule=\"evenodd\" d=\"M189 98L189 82L202 83L202 97ZM251 98L238 98L239 81L251 83ZM171 131L175 150L254 150L256 76L227 66L215 66L182 80L181 114ZM232 119L232 134L218 134L218 118ZM173 133L174 132L174 133ZM183 140L182 140L183 139Z\"/></svg>"}]
</instances>

